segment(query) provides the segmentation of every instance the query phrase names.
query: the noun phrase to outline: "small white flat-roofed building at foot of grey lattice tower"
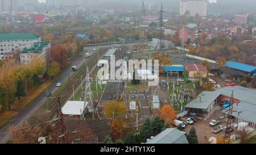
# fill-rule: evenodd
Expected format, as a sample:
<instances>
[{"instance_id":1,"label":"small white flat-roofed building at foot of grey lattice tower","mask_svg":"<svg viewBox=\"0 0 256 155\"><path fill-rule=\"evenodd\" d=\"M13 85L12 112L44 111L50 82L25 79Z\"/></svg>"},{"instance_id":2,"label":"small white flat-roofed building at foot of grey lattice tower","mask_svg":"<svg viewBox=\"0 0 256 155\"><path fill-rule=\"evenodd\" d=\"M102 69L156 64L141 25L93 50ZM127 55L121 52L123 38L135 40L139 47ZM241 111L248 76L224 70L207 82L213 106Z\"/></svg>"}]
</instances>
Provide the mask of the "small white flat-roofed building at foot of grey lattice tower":
<instances>
[{"instance_id":1,"label":"small white flat-roofed building at foot of grey lattice tower","mask_svg":"<svg viewBox=\"0 0 256 155\"><path fill-rule=\"evenodd\" d=\"M68 100L61 110L65 117L81 119L87 105L88 102L85 103L84 101Z\"/></svg>"}]
</instances>

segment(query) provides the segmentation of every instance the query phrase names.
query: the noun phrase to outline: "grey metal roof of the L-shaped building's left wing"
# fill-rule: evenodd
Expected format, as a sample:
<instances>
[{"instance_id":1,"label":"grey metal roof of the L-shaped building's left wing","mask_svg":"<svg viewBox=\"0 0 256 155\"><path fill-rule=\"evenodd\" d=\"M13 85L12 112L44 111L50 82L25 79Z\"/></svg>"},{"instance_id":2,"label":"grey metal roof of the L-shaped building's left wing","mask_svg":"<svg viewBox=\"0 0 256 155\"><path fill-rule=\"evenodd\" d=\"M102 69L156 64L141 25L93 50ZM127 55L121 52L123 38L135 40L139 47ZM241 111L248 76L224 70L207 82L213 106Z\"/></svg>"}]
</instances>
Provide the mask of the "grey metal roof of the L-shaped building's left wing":
<instances>
[{"instance_id":1,"label":"grey metal roof of the L-shaped building's left wing","mask_svg":"<svg viewBox=\"0 0 256 155\"><path fill-rule=\"evenodd\" d=\"M192 100L185 106L186 108L200 108L207 109L214 100L220 96L220 92L216 91L203 91L196 99ZM200 99L201 97L201 99Z\"/></svg>"}]
</instances>

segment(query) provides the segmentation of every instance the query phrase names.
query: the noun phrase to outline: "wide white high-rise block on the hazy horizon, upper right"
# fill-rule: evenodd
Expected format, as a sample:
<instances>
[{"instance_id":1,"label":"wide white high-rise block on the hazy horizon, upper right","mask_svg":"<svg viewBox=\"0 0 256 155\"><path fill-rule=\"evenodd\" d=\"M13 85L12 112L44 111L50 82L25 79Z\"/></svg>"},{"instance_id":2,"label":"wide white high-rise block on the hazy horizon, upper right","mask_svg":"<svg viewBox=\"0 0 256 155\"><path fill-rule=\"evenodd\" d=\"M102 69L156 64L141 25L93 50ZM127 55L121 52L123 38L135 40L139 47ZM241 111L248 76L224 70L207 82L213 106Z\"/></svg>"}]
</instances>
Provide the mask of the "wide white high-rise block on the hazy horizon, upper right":
<instances>
[{"instance_id":1,"label":"wide white high-rise block on the hazy horizon, upper right","mask_svg":"<svg viewBox=\"0 0 256 155\"><path fill-rule=\"evenodd\" d=\"M206 0L180 0L180 15L189 12L191 16L207 16Z\"/></svg>"}]
</instances>

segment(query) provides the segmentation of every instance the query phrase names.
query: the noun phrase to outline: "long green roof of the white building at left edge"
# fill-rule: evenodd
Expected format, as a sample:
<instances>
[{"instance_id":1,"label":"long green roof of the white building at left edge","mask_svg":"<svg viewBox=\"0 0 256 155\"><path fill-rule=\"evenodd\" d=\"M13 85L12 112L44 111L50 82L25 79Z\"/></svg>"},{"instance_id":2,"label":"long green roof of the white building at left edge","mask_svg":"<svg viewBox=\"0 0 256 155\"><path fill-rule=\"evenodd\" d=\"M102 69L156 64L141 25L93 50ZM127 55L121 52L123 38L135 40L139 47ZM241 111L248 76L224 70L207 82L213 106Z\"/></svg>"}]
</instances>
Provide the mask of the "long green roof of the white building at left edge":
<instances>
[{"instance_id":1,"label":"long green roof of the white building at left edge","mask_svg":"<svg viewBox=\"0 0 256 155\"><path fill-rule=\"evenodd\" d=\"M38 39L39 37L35 33L0 33L0 40Z\"/></svg>"}]
</instances>

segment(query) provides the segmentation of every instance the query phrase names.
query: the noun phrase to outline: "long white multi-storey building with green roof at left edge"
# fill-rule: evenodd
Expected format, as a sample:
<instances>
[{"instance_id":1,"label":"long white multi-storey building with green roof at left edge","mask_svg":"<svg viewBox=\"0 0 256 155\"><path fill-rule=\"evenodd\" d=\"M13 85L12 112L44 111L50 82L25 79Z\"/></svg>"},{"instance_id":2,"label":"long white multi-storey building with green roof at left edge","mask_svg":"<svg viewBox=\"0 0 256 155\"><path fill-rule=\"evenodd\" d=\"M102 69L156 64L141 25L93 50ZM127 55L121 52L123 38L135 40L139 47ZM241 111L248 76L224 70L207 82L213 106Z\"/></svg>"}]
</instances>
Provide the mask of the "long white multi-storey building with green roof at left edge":
<instances>
[{"instance_id":1,"label":"long white multi-storey building with green roof at left edge","mask_svg":"<svg viewBox=\"0 0 256 155\"><path fill-rule=\"evenodd\" d=\"M22 51L38 42L41 42L41 36L34 33L0 34L0 59L13 58L16 50Z\"/></svg>"}]
</instances>

